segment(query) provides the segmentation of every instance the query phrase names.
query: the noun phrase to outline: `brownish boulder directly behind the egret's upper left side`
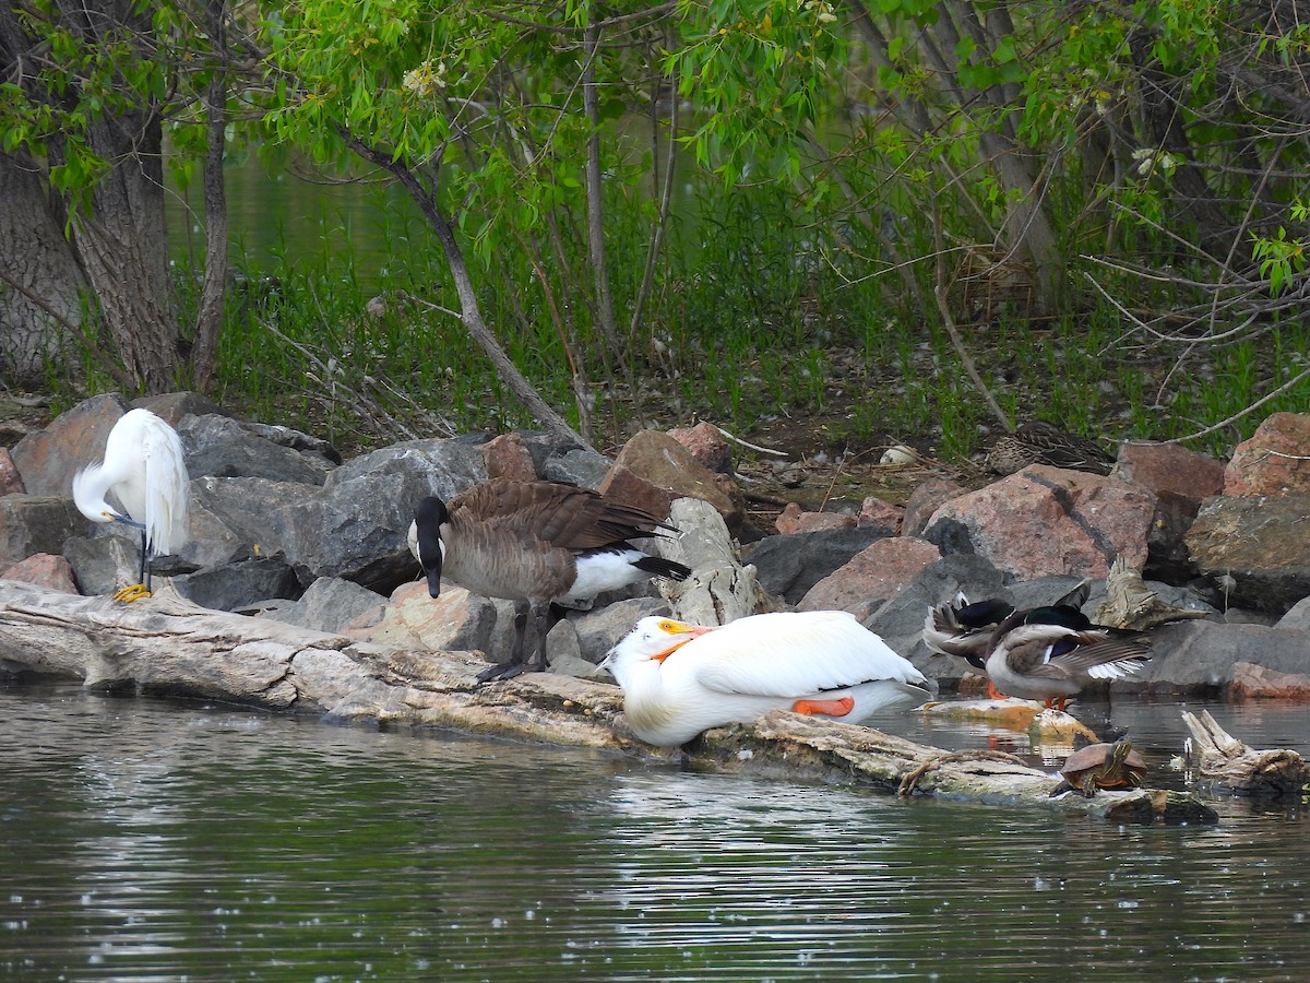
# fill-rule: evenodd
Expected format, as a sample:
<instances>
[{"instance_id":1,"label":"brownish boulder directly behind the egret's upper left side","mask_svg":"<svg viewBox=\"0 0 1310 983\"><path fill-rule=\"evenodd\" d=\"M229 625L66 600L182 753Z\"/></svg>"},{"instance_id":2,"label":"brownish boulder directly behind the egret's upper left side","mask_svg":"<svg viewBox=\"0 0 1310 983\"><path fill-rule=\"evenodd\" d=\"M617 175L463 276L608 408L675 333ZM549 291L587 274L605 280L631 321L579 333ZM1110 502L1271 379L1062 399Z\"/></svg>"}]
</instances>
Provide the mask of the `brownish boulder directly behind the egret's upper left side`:
<instances>
[{"instance_id":1,"label":"brownish boulder directly behind the egret's upper left side","mask_svg":"<svg viewBox=\"0 0 1310 983\"><path fill-rule=\"evenodd\" d=\"M14 467L31 495L73 493L73 474L105 456L109 431L128 410L118 393L93 396L13 446Z\"/></svg>"}]
</instances>

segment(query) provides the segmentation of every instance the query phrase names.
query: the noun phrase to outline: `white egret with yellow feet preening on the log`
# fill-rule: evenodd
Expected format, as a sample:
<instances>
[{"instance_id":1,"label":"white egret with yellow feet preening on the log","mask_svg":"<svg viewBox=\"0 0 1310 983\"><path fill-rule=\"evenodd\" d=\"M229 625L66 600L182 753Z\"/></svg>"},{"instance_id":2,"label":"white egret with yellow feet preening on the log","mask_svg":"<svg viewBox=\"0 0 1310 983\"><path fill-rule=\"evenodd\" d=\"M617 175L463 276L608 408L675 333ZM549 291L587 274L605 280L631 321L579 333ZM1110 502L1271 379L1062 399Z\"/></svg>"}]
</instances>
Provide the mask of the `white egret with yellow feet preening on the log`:
<instances>
[{"instance_id":1,"label":"white egret with yellow feet preening on the log","mask_svg":"<svg viewBox=\"0 0 1310 983\"><path fill-rule=\"evenodd\" d=\"M105 501L113 493L119 511ZM73 502L92 522L121 522L141 531L141 577L114 594L131 602L151 595L151 560L186 541L191 485L182 440L148 409L124 413L105 440L105 459L73 476Z\"/></svg>"}]
</instances>

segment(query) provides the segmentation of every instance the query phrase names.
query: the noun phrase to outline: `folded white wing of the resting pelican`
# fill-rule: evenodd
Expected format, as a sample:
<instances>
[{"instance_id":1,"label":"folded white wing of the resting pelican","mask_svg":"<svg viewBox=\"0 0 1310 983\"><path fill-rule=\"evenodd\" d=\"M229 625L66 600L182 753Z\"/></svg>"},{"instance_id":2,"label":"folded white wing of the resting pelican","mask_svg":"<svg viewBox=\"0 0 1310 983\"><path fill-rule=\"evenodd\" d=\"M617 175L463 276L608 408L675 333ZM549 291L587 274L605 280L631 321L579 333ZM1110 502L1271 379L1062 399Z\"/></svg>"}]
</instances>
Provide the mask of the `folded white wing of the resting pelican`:
<instances>
[{"instance_id":1,"label":"folded white wing of the resting pelican","mask_svg":"<svg viewBox=\"0 0 1310 983\"><path fill-rule=\"evenodd\" d=\"M925 682L845 611L743 617L688 642L664 668L686 672L706 689L751 696L800 697L875 679Z\"/></svg>"}]
</instances>

